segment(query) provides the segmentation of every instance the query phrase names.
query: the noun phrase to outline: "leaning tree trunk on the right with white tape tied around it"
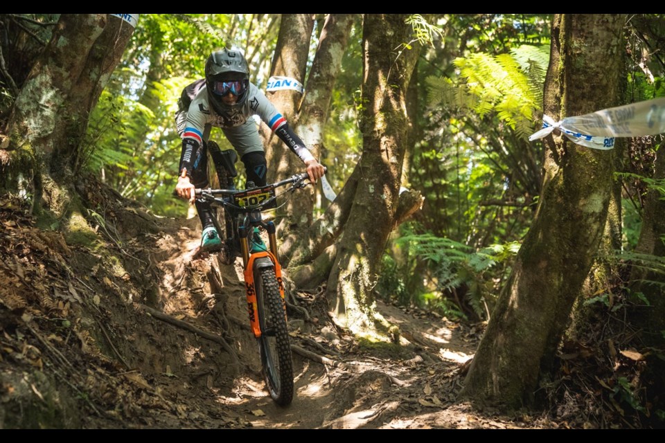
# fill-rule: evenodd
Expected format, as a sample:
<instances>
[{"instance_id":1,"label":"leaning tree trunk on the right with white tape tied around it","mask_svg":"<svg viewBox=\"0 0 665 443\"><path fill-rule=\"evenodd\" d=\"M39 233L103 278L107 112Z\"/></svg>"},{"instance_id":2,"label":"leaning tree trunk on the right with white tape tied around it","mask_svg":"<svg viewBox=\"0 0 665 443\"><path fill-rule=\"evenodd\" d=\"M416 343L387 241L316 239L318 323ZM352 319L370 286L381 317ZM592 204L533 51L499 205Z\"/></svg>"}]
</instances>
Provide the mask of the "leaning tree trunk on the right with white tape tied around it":
<instances>
[{"instance_id":1,"label":"leaning tree trunk on the right with white tape tied around it","mask_svg":"<svg viewBox=\"0 0 665 443\"><path fill-rule=\"evenodd\" d=\"M623 15L553 17L545 114L561 120L619 104L624 23ZM478 404L533 406L603 237L613 152L559 135L545 143L535 219L465 379L463 397Z\"/></svg>"}]
</instances>

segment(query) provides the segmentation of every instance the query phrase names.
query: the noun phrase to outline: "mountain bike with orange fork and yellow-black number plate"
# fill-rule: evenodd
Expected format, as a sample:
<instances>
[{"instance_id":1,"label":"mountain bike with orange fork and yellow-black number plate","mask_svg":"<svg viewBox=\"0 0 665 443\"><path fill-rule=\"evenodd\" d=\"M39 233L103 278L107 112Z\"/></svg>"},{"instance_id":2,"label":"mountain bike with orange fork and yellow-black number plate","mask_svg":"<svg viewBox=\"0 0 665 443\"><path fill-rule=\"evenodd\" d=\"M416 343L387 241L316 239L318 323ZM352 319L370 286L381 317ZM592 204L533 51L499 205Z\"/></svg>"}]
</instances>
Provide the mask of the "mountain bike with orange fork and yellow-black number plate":
<instances>
[{"instance_id":1,"label":"mountain bike with orange fork and yellow-black number plate","mask_svg":"<svg viewBox=\"0 0 665 443\"><path fill-rule=\"evenodd\" d=\"M245 189L233 186L237 173L233 165L233 152L222 152L229 161L218 170L220 186L226 189L196 189L200 201L209 201L213 210L215 227L224 240L223 256L226 264L242 257L247 295L247 311L251 332L256 337L263 376L270 397L279 405L287 406L293 399L293 368L291 345L287 327L286 302L282 268L278 259L276 229L272 221L263 221L262 213L277 208L278 197L305 188L310 182L308 174L255 186L248 182ZM288 186L280 194L278 188ZM223 211L220 211L223 209ZM223 212L220 217L220 212ZM259 230L267 232L268 245L260 239Z\"/></svg>"}]
</instances>

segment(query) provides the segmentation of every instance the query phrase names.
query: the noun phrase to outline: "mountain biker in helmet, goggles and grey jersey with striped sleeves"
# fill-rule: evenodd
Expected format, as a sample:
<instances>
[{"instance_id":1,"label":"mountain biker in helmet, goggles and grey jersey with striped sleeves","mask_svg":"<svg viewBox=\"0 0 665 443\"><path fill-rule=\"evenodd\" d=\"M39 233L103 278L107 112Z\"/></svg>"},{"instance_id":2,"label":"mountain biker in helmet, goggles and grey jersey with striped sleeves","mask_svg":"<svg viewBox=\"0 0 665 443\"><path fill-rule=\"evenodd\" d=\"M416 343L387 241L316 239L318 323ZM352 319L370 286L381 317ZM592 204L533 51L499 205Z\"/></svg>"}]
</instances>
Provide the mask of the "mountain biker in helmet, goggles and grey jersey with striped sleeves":
<instances>
[{"instance_id":1,"label":"mountain biker in helmet, goggles and grey jersey with striped sleeves","mask_svg":"<svg viewBox=\"0 0 665 443\"><path fill-rule=\"evenodd\" d=\"M312 183L323 177L324 169L263 91L249 82L249 65L240 51L224 48L211 53L206 61L205 80L198 80L188 88L195 96L176 115L182 150L175 194L195 204L203 228L201 250L210 251L219 248L222 241L213 224L210 204L196 201L194 190L208 186L207 150L215 168L220 168L220 148L209 141L211 127L222 129L245 164L247 181L254 181L256 186L267 184L267 163L253 115L258 115L299 156Z\"/></svg>"}]
</instances>

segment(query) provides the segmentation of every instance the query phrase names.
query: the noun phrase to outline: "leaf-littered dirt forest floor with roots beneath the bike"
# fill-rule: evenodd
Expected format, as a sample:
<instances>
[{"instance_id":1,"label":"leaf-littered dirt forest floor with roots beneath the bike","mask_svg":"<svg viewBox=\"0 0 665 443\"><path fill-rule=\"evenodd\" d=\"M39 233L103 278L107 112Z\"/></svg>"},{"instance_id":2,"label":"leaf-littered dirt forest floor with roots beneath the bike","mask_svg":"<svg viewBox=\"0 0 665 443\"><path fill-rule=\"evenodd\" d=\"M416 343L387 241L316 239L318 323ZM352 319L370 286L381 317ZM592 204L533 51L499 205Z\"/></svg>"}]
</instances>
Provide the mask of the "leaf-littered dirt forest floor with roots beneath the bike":
<instances>
[{"instance_id":1,"label":"leaf-littered dirt forest floor with roots beneath the bike","mask_svg":"<svg viewBox=\"0 0 665 443\"><path fill-rule=\"evenodd\" d=\"M276 406L240 259L199 254L197 219L82 195L98 212L66 235L0 200L0 428L598 427L459 401L483 324L378 301L400 344L371 345L333 325L323 288L290 291L295 392Z\"/></svg>"}]
</instances>

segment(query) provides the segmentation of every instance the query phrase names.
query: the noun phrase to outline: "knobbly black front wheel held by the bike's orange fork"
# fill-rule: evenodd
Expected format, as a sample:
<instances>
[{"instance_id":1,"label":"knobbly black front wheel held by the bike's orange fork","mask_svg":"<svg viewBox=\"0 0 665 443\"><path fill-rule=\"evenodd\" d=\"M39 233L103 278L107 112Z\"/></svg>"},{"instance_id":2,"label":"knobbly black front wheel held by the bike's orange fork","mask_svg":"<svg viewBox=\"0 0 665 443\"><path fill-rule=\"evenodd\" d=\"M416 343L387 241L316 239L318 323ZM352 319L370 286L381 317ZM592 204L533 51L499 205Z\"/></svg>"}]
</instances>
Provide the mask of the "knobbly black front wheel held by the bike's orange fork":
<instances>
[{"instance_id":1,"label":"knobbly black front wheel held by the bike's orange fork","mask_svg":"<svg viewBox=\"0 0 665 443\"><path fill-rule=\"evenodd\" d=\"M254 281L261 329L258 347L265 383L276 404L287 406L293 399L293 368L285 302L274 268L260 269L259 278Z\"/></svg>"}]
</instances>

